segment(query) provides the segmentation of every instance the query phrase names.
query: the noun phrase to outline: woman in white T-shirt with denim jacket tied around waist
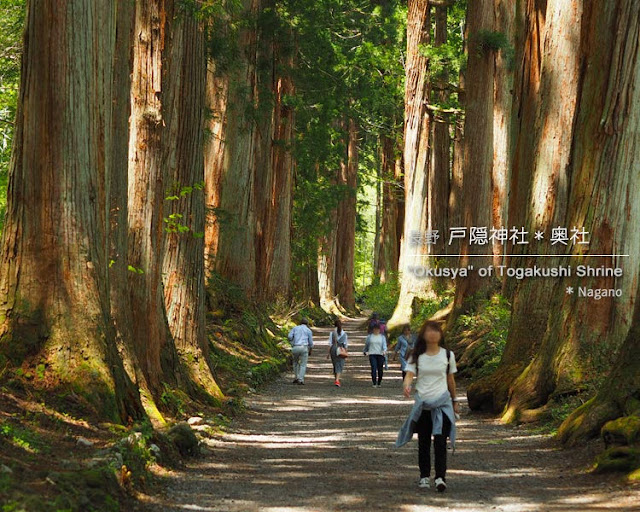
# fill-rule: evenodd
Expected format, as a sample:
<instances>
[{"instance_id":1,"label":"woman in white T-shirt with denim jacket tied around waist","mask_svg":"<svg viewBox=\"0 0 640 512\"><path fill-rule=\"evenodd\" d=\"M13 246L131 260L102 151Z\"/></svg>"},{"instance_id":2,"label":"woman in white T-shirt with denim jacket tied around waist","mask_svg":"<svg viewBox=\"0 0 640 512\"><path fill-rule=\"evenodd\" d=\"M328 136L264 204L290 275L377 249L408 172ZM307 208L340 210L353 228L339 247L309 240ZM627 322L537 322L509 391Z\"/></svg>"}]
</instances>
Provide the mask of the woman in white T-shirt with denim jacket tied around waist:
<instances>
[{"instance_id":1,"label":"woman in white T-shirt with denim jacket tied around waist","mask_svg":"<svg viewBox=\"0 0 640 512\"><path fill-rule=\"evenodd\" d=\"M431 474L431 435L435 451L435 481L439 492L447 488L447 437L455 451L456 415L458 399L456 382L456 358L444 348L444 334L440 324L426 321L409 355L404 379L404 395L411 396L414 376L416 379L415 402L409 417L398 433L396 446L405 445L418 432L419 487L429 488Z\"/></svg>"}]
</instances>

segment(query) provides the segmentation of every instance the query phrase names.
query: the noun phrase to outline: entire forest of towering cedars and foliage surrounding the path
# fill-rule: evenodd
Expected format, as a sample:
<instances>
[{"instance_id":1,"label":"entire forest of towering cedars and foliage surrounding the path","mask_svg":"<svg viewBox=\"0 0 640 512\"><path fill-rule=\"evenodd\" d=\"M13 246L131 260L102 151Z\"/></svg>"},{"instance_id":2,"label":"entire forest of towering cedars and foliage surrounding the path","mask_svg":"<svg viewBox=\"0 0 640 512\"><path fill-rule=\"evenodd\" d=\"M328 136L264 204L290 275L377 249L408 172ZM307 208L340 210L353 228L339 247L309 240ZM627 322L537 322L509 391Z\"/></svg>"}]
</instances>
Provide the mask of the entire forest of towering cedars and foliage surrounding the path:
<instances>
[{"instance_id":1,"label":"entire forest of towering cedars and foliage surrounding the path","mask_svg":"<svg viewBox=\"0 0 640 512\"><path fill-rule=\"evenodd\" d=\"M445 322L472 409L637 442L639 11L2 0L2 380L157 427L276 374L300 315L374 310ZM624 272L420 275L470 263Z\"/></svg>"}]
</instances>

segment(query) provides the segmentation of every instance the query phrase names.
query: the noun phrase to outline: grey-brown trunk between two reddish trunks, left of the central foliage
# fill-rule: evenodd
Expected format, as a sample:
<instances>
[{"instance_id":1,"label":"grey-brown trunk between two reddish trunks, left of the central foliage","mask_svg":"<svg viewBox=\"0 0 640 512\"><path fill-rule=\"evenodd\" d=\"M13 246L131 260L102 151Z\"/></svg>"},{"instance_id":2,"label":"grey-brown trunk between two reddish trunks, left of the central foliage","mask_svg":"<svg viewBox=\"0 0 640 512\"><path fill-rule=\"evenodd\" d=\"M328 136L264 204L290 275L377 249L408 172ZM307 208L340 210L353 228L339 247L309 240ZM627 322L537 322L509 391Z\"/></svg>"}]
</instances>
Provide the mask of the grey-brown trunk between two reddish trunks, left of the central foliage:
<instances>
[{"instance_id":1,"label":"grey-brown trunk between two reddish trunks, left of the central foliage","mask_svg":"<svg viewBox=\"0 0 640 512\"><path fill-rule=\"evenodd\" d=\"M253 18L259 0L244 0ZM256 148L257 126L253 110L258 106L257 41L255 22L239 37L240 58L229 72L224 158L220 183L220 211L215 270L252 296L256 283L257 232L255 169L260 156ZM262 153L264 156L264 151Z\"/></svg>"}]
</instances>

